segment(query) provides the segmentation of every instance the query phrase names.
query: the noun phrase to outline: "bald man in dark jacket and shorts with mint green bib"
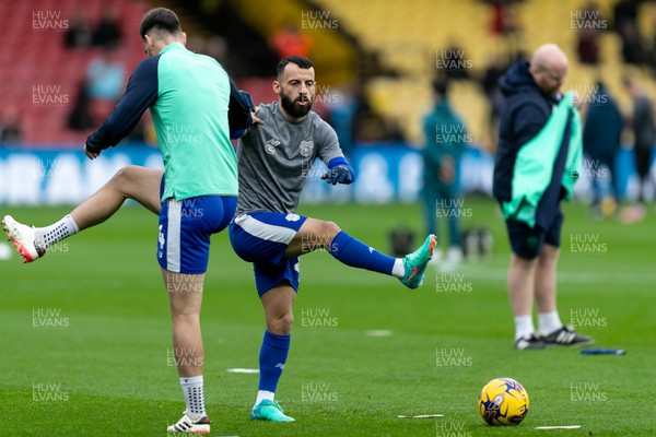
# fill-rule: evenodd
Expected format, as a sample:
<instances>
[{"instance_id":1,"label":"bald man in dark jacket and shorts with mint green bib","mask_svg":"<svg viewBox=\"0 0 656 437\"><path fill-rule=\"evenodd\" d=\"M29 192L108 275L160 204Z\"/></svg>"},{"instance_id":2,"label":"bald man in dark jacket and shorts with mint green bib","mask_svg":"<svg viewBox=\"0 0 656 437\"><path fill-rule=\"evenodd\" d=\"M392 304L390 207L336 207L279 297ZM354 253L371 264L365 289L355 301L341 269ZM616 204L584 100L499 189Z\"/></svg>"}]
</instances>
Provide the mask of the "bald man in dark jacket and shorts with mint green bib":
<instances>
[{"instance_id":1,"label":"bald man in dark jacket and shorts with mint green bib","mask_svg":"<svg viewBox=\"0 0 656 437\"><path fill-rule=\"evenodd\" d=\"M517 62L500 79L504 95L493 193L513 253L508 294L515 318L515 347L549 344L583 346L590 336L564 326L557 309L555 272L563 213L576 177L574 154L582 149L578 98L563 96L567 57L553 44L539 47L530 63ZM565 170L567 169L567 170ZM534 300L539 330L532 321Z\"/></svg>"}]
</instances>

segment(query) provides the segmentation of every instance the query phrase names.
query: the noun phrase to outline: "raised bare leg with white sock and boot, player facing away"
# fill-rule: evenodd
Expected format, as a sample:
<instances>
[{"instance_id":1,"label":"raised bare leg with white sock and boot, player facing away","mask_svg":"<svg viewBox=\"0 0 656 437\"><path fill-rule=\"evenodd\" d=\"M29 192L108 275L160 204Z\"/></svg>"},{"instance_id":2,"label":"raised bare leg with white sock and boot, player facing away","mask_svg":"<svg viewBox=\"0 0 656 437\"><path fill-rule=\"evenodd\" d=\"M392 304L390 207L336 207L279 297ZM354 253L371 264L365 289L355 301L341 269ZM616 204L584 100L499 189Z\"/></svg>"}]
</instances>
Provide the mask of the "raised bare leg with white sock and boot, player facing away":
<instances>
[{"instance_id":1,"label":"raised bare leg with white sock and boot, player facing away","mask_svg":"<svg viewBox=\"0 0 656 437\"><path fill-rule=\"evenodd\" d=\"M134 199L150 211L159 213L162 175L160 169L139 166L121 168L103 188L58 222L34 227L7 215L2 221L4 232L24 262L32 262L43 257L54 244L109 218L126 199Z\"/></svg>"}]
</instances>

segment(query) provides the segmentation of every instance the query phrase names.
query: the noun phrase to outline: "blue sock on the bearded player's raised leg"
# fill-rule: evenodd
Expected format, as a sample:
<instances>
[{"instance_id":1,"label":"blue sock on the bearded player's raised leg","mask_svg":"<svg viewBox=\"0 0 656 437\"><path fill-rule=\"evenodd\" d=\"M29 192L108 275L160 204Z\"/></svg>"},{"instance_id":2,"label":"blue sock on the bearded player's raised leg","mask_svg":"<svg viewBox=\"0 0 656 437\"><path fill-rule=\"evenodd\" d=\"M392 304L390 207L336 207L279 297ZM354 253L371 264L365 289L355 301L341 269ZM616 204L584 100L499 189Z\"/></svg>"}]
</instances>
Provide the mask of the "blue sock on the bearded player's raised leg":
<instances>
[{"instance_id":1,"label":"blue sock on the bearded player's raised leg","mask_svg":"<svg viewBox=\"0 0 656 437\"><path fill-rule=\"evenodd\" d=\"M396 258L383 255L341 231L330 244L330 255L347 265L391 274Z\"/></svg>"}]
</instances>

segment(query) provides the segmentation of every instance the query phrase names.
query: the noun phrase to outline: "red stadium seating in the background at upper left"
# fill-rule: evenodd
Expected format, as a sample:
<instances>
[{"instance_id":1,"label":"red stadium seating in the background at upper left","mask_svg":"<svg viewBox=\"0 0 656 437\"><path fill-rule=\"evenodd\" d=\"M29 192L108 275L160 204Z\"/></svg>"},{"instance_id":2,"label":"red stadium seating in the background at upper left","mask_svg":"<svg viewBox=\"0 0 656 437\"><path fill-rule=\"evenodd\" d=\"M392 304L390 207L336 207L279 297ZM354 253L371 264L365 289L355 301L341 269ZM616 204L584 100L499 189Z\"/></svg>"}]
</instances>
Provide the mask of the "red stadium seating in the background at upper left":
<instances>
[{"instance_id":1,"label":"red stadium seating in the background at upper left","mask_svg":"<svg viewBox=\"0 0 656 437\"><path fill-rule=\"evenodd\" d=\"M104 4L102 0L0 2L0 26L7 32L0 50L0 64L3 66L0 69L0 95L3 106L17 107L25 144L77 146L86 138L84 132L65 128L70 105L61 103L75 98L86 64L102 49L67 49L63 45L65 21L73 11L83 10L95 23ZM113 4L122 34L132 35L149 5L129 0L115 0ZM30 31L26 32L26 28ZM43 37L44 33L47 38ZM119 57L126 69L131 71L143 58L139 38L124 37ZM38 91L39 86L42 91ZM48 91L44 93L43 90ZM45 103L39 103L39 95Z\"/></svg>"}]
</instances>

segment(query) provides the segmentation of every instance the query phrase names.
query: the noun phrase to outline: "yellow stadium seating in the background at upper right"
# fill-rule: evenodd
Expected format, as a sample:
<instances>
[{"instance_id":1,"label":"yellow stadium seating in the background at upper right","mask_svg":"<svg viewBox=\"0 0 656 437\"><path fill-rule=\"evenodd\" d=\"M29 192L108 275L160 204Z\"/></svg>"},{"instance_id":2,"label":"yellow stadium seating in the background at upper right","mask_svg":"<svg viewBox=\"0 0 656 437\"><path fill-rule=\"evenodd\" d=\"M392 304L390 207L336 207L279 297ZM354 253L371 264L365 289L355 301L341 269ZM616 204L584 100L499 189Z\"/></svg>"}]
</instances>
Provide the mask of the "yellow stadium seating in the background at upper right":
<instances>
[{"instance_id":1,"label":"yellow stadium seating in the background at upper right","mask_svg":"<svg viewBox=\"0 0 656 437\"><path fill-rule=\"evenodd\" d=\"M420 115L431 104L430 82L435 75L440 50L456 42L465 60L471 61L475 74L481 74L494 55L506 54L506 42L490 33L491 9L482 1L462 0L315 0L314 3L331 11L340 26L354 34L365 50L377 51L383 62L400 74L397 78L373 78L366 86L372 106L386 118L395 120L406 139L414 144L422 142ZM620 38L610 31L613 0L598 1L608 29L600 35L601 63L599 73L581 64L576 57L576 29L571 28L571 14L587 1L530 0L516 4L518 22L527 32L520 34L520 48L530 52L546 42L560 45L571 61L571 73L565 88L588 90L597 74L601 74L611 93L618 95L624 109L629 96L622 88L621 78L626 72L648 79L649 72L625 66L620 57ZM641 8L649 8L643 5ZM651 35L649 14L640 14L643 35ZM485 42L481 44L480 42ZM492 144L488 135L489 103L473 81L457 81L452 91L454 106L462 114L475 142Z\"/></svg>"}]
</instances>

